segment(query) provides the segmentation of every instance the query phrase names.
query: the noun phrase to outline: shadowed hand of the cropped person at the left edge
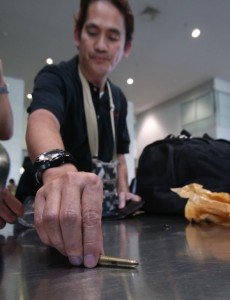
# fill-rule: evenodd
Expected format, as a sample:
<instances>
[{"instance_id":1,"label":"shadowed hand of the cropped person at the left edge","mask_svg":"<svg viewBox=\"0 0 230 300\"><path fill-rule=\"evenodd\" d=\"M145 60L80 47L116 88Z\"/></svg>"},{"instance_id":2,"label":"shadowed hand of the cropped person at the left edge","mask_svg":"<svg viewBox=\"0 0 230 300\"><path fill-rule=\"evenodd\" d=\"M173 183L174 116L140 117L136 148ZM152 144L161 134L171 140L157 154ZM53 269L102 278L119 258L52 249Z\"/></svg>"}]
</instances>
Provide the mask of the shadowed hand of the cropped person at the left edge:
<instances>
[{"instance_id":1,"label":"shadowed hand of the cropped person at the left edge","mask_svg":"<svg viewBox=\"0 0 230 300\"><path fill-rule=\"evenodd\" d=\"M6 188L0 192L0 228L13 224L23 215L23 205Z\"/></svg>"}]
</instances>

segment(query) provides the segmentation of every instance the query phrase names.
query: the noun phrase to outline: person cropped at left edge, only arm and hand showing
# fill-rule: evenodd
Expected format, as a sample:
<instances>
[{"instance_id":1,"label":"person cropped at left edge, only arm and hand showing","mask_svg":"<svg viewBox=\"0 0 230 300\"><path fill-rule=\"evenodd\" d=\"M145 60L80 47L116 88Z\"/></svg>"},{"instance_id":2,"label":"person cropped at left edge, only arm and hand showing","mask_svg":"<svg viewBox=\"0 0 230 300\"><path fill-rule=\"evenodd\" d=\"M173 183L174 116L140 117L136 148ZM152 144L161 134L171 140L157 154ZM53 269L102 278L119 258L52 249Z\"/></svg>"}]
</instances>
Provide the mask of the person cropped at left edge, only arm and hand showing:
<instances>
[{"instance_id":1,"label":"person cropped at left edge, only arm and hand showing","mask_svg":"<svg viewBox=\"0 0 230 300\"><path fill-rule=\"evenodd\" d=\"M0 59L0 140L8 140L13 134L13 114L8 97L8 88L4 81L3 65ZM6 151L0 144L0 169L6 168L2 165L6 156ZM4 186L6 182L7 172L0 170L0 228L3 228L6 223L14 223L17 217L22 216L22 204L6 189Z\"/></svg>"}]
</instances>

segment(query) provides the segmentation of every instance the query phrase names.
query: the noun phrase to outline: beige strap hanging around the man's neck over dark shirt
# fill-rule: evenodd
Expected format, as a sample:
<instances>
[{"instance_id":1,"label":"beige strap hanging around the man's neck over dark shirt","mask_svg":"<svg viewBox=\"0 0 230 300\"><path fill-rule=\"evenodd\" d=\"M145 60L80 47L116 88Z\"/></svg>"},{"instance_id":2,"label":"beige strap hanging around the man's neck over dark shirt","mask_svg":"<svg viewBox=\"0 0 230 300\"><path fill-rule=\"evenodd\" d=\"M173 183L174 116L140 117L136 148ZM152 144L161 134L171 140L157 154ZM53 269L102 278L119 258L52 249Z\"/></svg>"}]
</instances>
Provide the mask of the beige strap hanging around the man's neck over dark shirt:
<instances>
[{"instance_id":1,"label":"beige strap hanging around the man's neck over dark shirt","mask_svg":"<svg viewBox=\"0 0 230 300\"><path fill-rule=\"evenodd\" d=\"M90 92L90 87L88 81L85 79L84 75L81 72L80 66L78 66L78 72L80 76L80 80L82 83L83 89L83 102L85 109L85 117L86 117L86 127L89 139L89 147L92 159L98 159L98 151L99 151L99 136L98 136L98 125L97 118L95 113L95 108L92 100L92 95ZM116 159L116 135L115 135L115 124L114 124L114 103L113 96L109 82L106 82L108 93L109 93L109 104L110 104L110 119L111 119L111 127L112 127L112 135L113 135L113 160Z\"/></svg>"}]
</instances>

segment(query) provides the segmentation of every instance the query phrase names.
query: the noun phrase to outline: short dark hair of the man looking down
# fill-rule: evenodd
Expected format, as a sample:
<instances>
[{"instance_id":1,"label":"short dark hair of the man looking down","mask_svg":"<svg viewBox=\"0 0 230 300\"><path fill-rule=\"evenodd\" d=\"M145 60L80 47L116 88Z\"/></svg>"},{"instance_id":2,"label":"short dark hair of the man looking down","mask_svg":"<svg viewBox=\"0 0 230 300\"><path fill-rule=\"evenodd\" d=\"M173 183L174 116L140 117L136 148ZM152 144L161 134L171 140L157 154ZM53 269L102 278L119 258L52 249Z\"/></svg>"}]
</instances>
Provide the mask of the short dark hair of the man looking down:
<instances>
[{"instance_id":1,"label":"short dark hair of the man looking down","mask_svg":"<svg viewBox=\"0 0 230 300\"><path fill-rule=\"evenodd\" d=\"M108 1L111 2L124 16L126 38L125 45L132 41L134 32L134 16L129 5L128 0L81 0L80 11L75 18L75 28L79 30L80 34L82 32L83 26L85 24L89 5L97 1Z\"/></svg>"}]
</instances>

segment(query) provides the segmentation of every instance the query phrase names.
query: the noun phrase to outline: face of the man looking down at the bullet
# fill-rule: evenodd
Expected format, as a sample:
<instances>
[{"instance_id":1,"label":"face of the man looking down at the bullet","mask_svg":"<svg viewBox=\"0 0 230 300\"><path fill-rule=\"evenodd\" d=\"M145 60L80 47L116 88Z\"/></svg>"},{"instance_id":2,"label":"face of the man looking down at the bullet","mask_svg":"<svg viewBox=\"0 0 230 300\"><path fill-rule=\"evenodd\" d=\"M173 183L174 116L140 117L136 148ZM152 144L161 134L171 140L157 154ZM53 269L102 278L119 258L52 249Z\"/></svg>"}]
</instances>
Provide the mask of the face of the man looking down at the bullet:
<instances>
[{"instance_id":1,"label":"face of the man looking down at the bullet","mask_svg":"<svg viewBox=\"0 0 230 300\"><path fill-rule=\"evenodd\" d=\"M128 56L125 47L125 23L122 14L107 1L90 4L81 36L75 32L81 69L88 80L100 81Z\"/></svg>"}]
</instances>

